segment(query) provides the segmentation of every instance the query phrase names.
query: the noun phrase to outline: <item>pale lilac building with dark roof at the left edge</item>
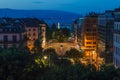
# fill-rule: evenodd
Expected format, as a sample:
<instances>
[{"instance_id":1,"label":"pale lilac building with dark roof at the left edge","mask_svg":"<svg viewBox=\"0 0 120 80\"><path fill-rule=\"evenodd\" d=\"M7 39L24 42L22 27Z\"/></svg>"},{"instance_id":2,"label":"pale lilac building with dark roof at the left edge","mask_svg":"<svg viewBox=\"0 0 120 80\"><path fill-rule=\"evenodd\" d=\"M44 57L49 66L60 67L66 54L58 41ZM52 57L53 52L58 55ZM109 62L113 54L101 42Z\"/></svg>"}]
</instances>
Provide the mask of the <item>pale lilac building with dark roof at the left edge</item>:
<instances>
[{"instance_id":1,"label":"pale lilac building with dark roof at the left edge","mask_svg":"<svg viewBox=\"0 0 120 80\"><path fill-rule=\"evenodd\" d=\"M13 45L18 47L26 40L26 31L22 26L0 26L0 47L9 48Z\"/></svg>"}]
</instances>

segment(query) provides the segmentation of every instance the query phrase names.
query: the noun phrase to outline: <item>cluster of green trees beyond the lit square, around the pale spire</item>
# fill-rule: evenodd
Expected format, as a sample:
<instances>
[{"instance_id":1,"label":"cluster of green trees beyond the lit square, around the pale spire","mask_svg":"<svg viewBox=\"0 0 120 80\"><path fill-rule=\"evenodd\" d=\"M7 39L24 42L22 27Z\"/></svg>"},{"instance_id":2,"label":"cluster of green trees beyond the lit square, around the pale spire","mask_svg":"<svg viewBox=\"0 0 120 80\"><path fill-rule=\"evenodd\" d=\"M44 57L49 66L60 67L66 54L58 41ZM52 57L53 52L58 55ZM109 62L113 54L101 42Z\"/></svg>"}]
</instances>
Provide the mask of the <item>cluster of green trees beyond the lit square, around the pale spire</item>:
<instances>
[{"instance_id":1,"label":"cluster of green trees beyond the lit square, around the pale spire","mask_svg":"<svg viewBox=\"0 0 120 80\"><path fill-rule=\"evenodd\" d=\"M58 42L66 42L67 38L70 36L70 30L68 28L61 28L60 30L56 28L55 24L47 28L46 32L47 41L51 39L56 39Z\"/></svg>"}]
</instances>

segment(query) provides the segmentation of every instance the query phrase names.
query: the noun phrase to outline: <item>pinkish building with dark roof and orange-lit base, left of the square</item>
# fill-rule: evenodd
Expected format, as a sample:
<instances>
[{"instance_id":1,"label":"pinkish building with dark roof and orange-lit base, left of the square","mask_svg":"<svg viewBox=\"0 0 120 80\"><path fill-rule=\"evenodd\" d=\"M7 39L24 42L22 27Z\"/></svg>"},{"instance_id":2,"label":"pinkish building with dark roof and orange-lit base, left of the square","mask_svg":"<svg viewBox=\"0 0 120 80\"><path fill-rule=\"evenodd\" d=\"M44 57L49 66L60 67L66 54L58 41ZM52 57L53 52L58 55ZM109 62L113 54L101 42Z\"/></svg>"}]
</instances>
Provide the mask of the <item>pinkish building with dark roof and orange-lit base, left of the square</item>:
<instances>
[{"instance_id":1,"label":"pinkish building with dark roof and orange-lit base, left of the square","mask_svg":"<svg viewBox=\"0 0 120 80\"><path fill-rule=\"evenodd\" d=\"M46 44L46 25L38 19L23 19L26 33L27 33L27 46L30 50L34 48L34 42L40 38L42 40L42 47ZM42 37L41 37L42 36Z\"/></svg>"}]
</instances>

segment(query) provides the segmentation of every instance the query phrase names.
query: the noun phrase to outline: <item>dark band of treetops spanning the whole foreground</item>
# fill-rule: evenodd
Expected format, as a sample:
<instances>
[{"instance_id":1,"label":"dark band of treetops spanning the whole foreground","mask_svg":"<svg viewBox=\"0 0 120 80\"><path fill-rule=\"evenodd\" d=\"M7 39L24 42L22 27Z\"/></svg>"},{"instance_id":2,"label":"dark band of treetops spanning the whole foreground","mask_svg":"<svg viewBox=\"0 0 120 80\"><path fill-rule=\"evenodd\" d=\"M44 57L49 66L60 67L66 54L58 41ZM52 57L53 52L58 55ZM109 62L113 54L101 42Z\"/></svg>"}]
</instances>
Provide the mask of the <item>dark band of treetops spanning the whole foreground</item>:
<instances>
[{"instance_id":1,"label":"dark band of treetops spanning the whole foreground","mask_svg":"<svg viewBox=\"0 0 120 80\"><path fill-rule=\"evenodd\" d=\"M70 50L78 53L75 49ZM69 53L71 53L69 52ZM71 53L71 54L72 54ZM75 53L74 53L75 54ZM50 55L54 65L46 67L42 62L44 55ZM71 58L77 57L69 56ZM81 57L81 56L79 56ZM78 58L79 58L78 57ZM31 55L26 49L16 47L0 49L0 80L119 80L120 69L104 65L96 70L94 65L71 64L69 59L57 56L54 49L46 49L42 55Z\"/></svg>"}]
</instances>

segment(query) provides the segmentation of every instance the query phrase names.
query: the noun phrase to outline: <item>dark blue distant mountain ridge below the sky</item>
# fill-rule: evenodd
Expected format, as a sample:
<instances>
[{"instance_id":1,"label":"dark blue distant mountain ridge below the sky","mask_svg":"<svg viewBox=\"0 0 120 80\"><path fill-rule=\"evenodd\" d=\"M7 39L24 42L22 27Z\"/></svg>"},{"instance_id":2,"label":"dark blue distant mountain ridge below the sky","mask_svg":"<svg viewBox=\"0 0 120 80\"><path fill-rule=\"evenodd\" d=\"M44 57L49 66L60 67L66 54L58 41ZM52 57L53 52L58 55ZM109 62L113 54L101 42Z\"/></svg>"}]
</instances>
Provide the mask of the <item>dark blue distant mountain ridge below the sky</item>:
<instances>
[{"instance_id":1,"label":"dark blue distant mountain ridge below the sky","mask_svg":"<svg viewBox=\"0 0 120 80\"><path fill-rule=\"evenodd\" d=\"M62 24L70 24L81 15L65 11L57 10L16 10L16 9L0 9L0 17L12 18L39 18L44 19L48 23L61 22Z\"/></svg>"}]
</instances>

